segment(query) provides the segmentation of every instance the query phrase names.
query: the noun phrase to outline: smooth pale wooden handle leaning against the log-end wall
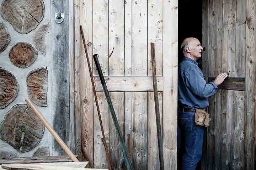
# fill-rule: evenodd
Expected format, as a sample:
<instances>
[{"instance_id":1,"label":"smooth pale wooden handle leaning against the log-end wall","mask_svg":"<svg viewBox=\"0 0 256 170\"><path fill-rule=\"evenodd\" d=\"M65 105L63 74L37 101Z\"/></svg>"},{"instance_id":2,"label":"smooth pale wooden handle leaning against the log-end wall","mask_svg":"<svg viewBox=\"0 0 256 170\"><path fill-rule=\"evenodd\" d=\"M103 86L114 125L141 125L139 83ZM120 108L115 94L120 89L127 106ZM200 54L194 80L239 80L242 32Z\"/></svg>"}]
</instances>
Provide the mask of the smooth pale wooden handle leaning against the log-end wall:
<instances>
[{"instance_id":1,"label":"smooth pale wooden handle leaning against the log-end wall","mask_svg":"<svg viewBox=\"0 0 256 170\"><path fill-rule=\"evenodd\" d=\"M53 128L50 126L50 124L47 122L47 120L43 117L43 115L34 107L32 102L27 98L25 100L28 105L32 108L34 113L38 116L38 118L42 121L44 126L49 130L49 132L52 134L52 136L55 138L55 140L59 143L59 145L64 149L64 151L69 155L69 157L74 161L74 162L79 162L79 160L75 157L75 155L70 151L68 146L63 142L63 140L59 137L59 135L53 130Z\"/></svg>"}]
</instances>

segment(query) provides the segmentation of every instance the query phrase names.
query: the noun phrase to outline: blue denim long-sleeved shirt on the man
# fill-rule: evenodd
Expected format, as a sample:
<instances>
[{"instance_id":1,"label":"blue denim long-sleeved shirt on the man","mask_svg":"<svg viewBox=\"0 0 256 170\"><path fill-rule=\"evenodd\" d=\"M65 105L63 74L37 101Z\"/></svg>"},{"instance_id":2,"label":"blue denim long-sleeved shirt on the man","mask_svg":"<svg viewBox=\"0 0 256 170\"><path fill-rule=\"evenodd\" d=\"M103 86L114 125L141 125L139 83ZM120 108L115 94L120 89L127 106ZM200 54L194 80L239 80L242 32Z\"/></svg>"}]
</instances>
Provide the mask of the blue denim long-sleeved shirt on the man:
<instances>
[{"instance_id":1,"label":"blue denim long-sleeved shirt on the man","mask_svg":"<svg viewBox=\"0 0 256 170\"><path fill-rule=\"evenodd\" d=\"M189 107L206 108L208 97L214 95L218 87L214 82L206 83L198 63L185 57L178 68L178 103Z\"/></svg>"}]
</instances>

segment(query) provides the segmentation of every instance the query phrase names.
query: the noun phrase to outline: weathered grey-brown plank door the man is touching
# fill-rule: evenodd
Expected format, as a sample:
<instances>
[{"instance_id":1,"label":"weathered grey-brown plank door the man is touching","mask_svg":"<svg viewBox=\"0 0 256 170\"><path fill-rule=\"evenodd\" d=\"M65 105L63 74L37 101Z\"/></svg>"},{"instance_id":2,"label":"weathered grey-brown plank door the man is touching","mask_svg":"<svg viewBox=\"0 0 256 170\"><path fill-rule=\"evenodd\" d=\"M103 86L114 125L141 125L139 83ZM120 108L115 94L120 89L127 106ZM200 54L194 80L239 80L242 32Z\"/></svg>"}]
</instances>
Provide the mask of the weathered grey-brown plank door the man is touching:
<instances>
[{"instance_id":1,"label":"weathered grey-brown plank door the man is touching","mask_svg":"<svg viewBox=\"0 0 256 170\"><path fill-rule=\"evenodd\" d=\"M202 169L255 168L255 2L203 1L203 72L245 78L245 91L219 90L210 98Z\"/></svg>"}]
</instances>

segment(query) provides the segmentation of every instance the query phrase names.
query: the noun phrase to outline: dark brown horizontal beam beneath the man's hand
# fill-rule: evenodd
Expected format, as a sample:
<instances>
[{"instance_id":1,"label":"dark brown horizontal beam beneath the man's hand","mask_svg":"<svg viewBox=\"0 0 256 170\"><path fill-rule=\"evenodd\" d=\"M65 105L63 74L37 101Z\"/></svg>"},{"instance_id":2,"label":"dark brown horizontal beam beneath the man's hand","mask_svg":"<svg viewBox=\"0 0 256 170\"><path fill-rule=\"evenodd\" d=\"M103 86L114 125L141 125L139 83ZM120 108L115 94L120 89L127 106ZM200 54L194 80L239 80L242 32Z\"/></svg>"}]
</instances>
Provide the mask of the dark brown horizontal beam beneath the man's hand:
<instances>
[{"instance_id":1,"label":"dark brown horizontal beam beneath the man's hand","mask_svg":"<svg viewBox=\"0 0 256 170\"><path fill-rule=\"evenodd\" d=\"M208 77L208 82L215 80L215 77ZM239 90L245 91L245 78L228 77L222 84L218 85L223 90Z\"/></svg>"}]
</instances>

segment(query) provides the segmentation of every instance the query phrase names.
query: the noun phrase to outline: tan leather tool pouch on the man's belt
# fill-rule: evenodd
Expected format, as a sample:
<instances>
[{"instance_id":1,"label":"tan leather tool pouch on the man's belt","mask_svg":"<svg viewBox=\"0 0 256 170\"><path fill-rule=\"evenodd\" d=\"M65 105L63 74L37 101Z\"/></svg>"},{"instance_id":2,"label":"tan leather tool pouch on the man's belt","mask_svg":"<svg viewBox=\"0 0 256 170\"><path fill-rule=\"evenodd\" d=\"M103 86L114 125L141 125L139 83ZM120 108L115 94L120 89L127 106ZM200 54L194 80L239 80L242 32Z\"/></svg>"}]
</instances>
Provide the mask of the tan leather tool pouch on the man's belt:
<instances>
[{"instance_id":1,"label":"tan leather tool pouch on the man's belt","mask_svg":"<svg viewBox=\"0 0 256 170\"><path fill-rule=\"evenodd\" d=\"M206 113L205 109L196 108L195 113L195 123L199 126L208 127L210 125L210 121L212 119L209 118L209 114Z\"/></svg>"}]
</instances>

